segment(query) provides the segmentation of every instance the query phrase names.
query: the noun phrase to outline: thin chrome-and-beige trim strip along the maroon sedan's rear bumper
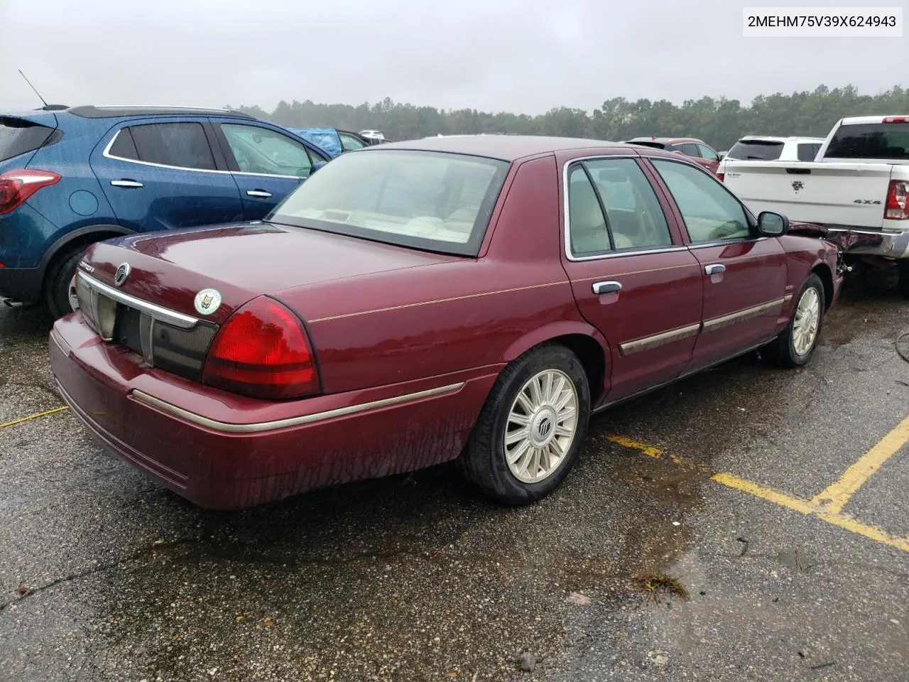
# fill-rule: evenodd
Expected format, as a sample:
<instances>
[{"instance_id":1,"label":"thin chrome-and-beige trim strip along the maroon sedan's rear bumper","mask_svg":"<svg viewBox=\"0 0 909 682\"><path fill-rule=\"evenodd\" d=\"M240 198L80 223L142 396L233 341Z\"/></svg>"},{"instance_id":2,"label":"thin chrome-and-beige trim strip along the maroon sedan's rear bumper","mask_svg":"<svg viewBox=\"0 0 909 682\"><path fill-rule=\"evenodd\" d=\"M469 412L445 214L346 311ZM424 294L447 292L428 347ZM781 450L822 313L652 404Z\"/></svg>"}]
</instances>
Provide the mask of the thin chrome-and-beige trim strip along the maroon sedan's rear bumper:
<instances>
[{"instance_id":1,"label":"thin chrome-and-beige trim strip along the maroon sedan's rear bumper","mask_svg":"<svg viewBox=\"0 0 909 682\"><path fill-rule=\"evenodd\" d=\"M156 398L155 396L149 396L147 393L140 391L137 388L133 389L132 396L134 396L136 400L139 400L146 405L156 407L170 415L179 416L197 426L205 426L205 428L212 429L213 431L219 431L228 434L255 434L262 433L264 431L274 431L278 428L287 428L290 426L305 426L306 424L314 424L315 422L325 421L326 419L333 419L337 416L356 415L362 412L367 412L369 410L379 409L381 407L402 405L404 403L414 402L426 397L442 396L460 390L465 383L466 382L461 381L457 384L448 384L447 386L429 388L425 391L408 393L404 396L395 396L390 398L383 398L382 400L372 400L368 403L360 403L358 405L338 407L333 410L326 410L325 412L316 412L312 415L291 416L287 417L286 419L276 419L275 421L270 422L255 422L253 424L228 424L226 422L216 421L215 419L209 419L206 416L196 415L195 412L189 412L182 407L171 405L170 403Z\"/></svg>"}]
</instances>

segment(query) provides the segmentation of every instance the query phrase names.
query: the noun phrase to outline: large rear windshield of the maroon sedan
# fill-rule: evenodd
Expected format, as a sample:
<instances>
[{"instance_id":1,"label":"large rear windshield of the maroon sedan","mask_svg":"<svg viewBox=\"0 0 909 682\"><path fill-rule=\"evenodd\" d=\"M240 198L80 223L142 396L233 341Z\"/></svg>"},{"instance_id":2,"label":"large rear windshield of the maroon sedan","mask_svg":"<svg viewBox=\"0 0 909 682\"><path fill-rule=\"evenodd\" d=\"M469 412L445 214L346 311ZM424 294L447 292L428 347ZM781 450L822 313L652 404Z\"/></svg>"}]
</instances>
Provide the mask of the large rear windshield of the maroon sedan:
<instances>
[{"instance_id":1,"label":"large rear windshield of the maroon sedan","mask_svg":"<svg viewBox=\"0 0 909 682\"><path fill-rule=\"evenodd\" d=\"M508 163L479 156L380 150L338 156L266 220L476 256Z\"/></svg>"}]
</instances>

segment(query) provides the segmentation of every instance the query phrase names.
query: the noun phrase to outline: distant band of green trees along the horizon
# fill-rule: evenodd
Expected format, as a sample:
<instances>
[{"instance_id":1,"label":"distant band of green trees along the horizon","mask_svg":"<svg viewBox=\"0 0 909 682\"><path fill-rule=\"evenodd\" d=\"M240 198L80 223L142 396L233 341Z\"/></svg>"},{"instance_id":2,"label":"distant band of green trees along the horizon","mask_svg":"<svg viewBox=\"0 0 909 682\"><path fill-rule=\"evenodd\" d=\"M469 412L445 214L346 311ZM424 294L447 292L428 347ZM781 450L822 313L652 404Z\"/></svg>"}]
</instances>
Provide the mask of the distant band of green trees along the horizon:
<instances>
[{"instance_id":1,"label":"distant band of green trees along the horizon","mask_svg":"<svg viewBox=\"0 0 909 682\"><path fill-rule=\"evenodd\" d=\"M359 106L282 101L270 113L258 106L231 108L290 127L377 129L392 140L439 133L516 133L612 141L636 135L673 135L699 137L722 150L747 134L823 137L844 116L909 114L909 88L897 85L879 95L859 95L852 85L832 90L820 85L814 92L759 95L747 106L724 97L686 100L682 105L665 99L629 102L624 97L614 97L592 112L560 106L535 116L475 109L440 110L400 104L389 98Z\"/></svg>"}]
</instances>

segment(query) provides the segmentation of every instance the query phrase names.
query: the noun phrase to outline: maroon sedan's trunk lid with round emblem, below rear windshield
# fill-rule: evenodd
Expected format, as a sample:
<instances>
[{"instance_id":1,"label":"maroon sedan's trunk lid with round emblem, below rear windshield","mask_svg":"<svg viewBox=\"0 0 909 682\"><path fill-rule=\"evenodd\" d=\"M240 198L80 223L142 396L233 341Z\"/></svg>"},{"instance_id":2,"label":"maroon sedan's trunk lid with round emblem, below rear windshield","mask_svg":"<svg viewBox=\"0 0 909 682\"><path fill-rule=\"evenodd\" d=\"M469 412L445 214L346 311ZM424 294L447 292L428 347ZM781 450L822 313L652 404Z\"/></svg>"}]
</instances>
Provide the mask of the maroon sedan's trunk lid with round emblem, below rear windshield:
<instances>
[{"instance_id":1,"label":"maroon sedan's trunk lid with round emblem, below rear windshield","mask_svg":"<svg viewBox=\"0 0 909 682\"><path fill-rule=\"evenodd\" d=\"M317 230L255 222L121 237L95 245L80 270L113 286L123 263L123 293L198 316L196 294L215 289L222 303L206 319L221 324L255 296L330 279L456 259Z\"/></svg>"}]
</instances>

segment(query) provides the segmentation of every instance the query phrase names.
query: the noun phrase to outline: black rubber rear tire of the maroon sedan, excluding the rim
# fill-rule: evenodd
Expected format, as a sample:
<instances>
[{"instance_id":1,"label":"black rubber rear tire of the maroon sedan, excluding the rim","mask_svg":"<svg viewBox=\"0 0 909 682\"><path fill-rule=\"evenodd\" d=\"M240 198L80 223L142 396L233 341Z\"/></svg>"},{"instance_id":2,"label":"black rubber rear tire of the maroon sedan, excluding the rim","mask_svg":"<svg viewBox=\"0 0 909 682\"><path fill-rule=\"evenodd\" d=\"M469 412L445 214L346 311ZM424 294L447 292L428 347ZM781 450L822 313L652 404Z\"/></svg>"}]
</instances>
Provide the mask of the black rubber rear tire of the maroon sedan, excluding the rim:
<instances>
[{"instance_id":1,"label":"black rubber rear tire of the maroon sedan, excluding the rim","mask_svg":"<svg viewBox=\"0 0 909 682\"><path fill-rule=\"evenodd\" d=\"M546 370L562 373L574 387L577 402L574 436L552 472L540 481L527 483L512 473L505 459L505 430L518 394L534 376ZM516 358L496 379L458 465L464 476L494 500L512 506L530 504L549 495L568 475L580 452L589 419L590 386L580 360L564 346L538 346ZM557 423L550 424L550 428L556 426Z\"/></svg>"}]
</instances>

